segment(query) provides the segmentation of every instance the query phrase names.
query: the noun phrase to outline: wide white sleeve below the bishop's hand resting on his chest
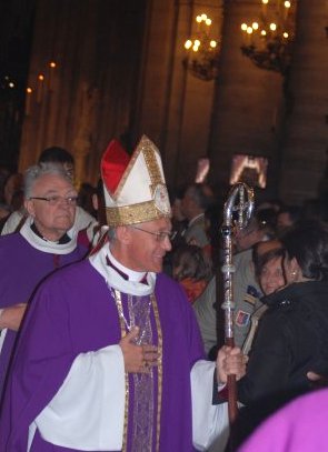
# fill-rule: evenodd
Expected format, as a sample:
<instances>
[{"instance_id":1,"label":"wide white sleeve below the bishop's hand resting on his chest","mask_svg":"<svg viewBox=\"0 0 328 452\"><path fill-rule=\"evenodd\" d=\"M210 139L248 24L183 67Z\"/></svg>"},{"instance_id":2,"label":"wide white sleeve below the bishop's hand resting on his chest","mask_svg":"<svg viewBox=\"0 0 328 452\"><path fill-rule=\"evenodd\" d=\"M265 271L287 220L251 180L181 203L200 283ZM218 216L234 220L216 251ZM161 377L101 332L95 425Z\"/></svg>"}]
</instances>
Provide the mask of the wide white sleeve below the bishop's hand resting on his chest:
<instances>
[{"instance_id":1,"label":"wide white sleeve below the bishop's hand resting on his chest","mask_svg":"<svg viewBox=\"0 0 328 452\"><path fill-rule=\"evenodd\" d=\"M81 451L119 451L125 393L125 362L119 345L81 353L33 424L46 441L56 445Z\"/></svg>"}]
</instances>

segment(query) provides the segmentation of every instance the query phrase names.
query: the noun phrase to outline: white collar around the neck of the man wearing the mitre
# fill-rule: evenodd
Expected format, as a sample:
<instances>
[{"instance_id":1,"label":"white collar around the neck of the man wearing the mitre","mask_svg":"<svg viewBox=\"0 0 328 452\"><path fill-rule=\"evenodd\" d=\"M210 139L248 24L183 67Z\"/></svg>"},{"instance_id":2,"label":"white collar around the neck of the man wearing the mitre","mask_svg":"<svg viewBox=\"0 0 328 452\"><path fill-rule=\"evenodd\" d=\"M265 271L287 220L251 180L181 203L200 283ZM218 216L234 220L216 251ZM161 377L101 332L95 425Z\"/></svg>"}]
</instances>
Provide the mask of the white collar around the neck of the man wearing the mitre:
<instances>
[{"instance_id":1,"label":"white collar around the neck of the man wearing the mitre","mask_svg":"<svg viewBox=\"0 0 328 452\"><path fill-rule=\"evenodd\" d=\"M118 262L111 254L108 243L97 253L90 255L89 261L109 288L137 297L150 295L155 290L156 273L146 273L146 282L142 281L145 272L136 272ZM108 265L108 261L111 263L110 265Z\"/></svg>"}]
</instances>

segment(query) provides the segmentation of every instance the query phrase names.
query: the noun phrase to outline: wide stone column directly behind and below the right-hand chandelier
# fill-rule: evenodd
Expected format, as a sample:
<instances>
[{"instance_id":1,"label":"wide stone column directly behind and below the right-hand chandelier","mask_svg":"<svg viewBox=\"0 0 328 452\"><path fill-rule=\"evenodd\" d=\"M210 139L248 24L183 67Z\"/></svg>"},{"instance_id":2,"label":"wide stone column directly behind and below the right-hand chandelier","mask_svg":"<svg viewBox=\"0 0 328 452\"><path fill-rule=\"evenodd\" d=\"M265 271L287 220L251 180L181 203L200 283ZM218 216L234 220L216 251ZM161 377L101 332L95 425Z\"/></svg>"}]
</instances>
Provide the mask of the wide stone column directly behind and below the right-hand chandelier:
<instances>
[{"instance_id":1,"label":"wide stone column directly behind and below the right-hand chandelier","mask_svg":"<svg viewBox=\"0 0 328 452\"><path fill-rule=\"evenodd\" d=\"M240 26L251 23L260 11L257 0L225 2L220 72L209 141L210 180L227 191L235 154L264 155L269 160L266 195L275 197L282 77L257 68L240 51L243 39Z\"/></svg>"}]
</instances>

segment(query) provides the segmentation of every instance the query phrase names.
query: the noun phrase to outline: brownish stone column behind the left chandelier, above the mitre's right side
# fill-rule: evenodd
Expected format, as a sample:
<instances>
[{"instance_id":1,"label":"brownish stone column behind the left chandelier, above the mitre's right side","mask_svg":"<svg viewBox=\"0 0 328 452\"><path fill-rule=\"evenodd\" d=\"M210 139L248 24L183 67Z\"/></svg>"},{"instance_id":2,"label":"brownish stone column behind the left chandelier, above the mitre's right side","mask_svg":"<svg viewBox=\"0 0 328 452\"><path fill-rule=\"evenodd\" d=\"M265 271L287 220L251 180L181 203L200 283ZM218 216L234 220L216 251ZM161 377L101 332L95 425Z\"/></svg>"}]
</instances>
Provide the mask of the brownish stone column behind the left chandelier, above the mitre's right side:
<instances>
[{"instance_id":1,"label":"brownish stone column behind the left chandelier, above the mitre's right side","mask_svg":"<svg viewBox=\"0 0 328 452\"><path fill-rule=\"evenodd\" d=\"M159 145L170 187L193 181L198 158L207 155L215 82L182 66L183 44L201 12L212 19L211 36L220 41L221 0L149 2L136 129Z\"/></svg>"}]
</instances>

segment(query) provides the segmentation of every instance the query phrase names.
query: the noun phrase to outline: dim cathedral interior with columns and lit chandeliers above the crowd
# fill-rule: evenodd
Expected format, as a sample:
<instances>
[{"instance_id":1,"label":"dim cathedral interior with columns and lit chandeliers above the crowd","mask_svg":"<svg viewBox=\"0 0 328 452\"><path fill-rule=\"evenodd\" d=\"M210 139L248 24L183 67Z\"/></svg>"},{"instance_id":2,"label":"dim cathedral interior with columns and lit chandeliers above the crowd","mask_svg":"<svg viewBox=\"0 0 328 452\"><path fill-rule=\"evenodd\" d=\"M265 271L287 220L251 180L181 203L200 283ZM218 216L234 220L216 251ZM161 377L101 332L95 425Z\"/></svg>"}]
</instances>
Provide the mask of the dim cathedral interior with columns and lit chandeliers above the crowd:
<instances>
[{"instance_id":1,"label":"dim cathedral interior with columns and lit chandeliers above the crowd","mask_svg":"<svg viewBox=\"0 0 328 452\"><path fill-rule=\"evenodd\" d=\"M0 0L0 165L50 145L97 183L107 144L159 148L288 203L327 190L327 0Z\"/></svg>"}]
</instances>

